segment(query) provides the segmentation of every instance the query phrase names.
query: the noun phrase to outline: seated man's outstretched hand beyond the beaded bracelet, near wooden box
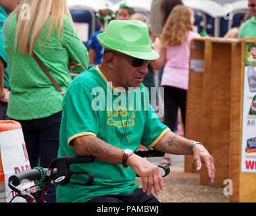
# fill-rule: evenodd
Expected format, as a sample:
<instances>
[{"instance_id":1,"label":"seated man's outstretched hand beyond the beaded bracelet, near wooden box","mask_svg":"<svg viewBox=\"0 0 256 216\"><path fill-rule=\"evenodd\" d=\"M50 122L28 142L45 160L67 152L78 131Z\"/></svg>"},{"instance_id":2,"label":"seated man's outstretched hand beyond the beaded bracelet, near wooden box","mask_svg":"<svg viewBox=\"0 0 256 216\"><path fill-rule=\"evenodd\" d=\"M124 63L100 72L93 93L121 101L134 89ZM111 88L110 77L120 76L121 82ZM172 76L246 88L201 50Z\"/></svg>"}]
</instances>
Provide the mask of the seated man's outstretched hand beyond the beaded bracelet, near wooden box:
<instances>
[{"instance_id":1,"label":"seated man's outstretched hand beyond the beaded bracelet, near wooden box","mask_svg":"<svg viewBox=\"0 0 256 216\"><path fill-rule=\"evenodd\" d=\"M205 163L208 172L209 184L213 184L216 173L213 157L211 157L206 148L201 144L193 146L193 153L197 171L201 170L202 163Z\"/></svg>"}]
</instances>

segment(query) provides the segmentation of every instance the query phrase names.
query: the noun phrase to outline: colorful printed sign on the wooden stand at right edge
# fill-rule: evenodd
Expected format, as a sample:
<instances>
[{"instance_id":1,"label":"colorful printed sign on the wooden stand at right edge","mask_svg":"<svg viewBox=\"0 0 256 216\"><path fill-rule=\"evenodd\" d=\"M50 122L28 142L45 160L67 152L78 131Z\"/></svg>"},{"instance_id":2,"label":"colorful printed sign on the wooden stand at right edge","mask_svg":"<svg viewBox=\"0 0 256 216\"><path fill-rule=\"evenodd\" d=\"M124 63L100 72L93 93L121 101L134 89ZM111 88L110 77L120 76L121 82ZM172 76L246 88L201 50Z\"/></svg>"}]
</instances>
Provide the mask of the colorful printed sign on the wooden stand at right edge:
<instances>
[{"instance_id":1,"label":"colorful printed sign on the wooden stand at right edge","mask_svg":"<svg viewBox=\"0 0 256 216\"><path fill-rule=\"evenodd\" d=\"M256 173L256 44L245 44L241 172Z\"/></svg>"}]
</instances>

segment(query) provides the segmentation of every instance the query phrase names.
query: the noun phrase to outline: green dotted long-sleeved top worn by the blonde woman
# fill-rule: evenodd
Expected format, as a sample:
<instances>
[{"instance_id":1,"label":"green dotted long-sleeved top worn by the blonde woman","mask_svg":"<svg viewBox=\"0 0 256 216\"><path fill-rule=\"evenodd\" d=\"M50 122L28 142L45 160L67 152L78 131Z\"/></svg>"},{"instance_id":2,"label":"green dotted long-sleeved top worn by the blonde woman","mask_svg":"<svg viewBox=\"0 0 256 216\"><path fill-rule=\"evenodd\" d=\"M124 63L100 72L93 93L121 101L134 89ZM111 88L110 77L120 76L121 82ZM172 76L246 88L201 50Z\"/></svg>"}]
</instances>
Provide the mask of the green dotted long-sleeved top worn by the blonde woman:
<instances>
[{"instance_id":1,"label":"green dotted long-sleeved top worn by the blonde woman","mask_svg":"<svg viewBox=\"0 0 256 216\"><path fill-rule=\"evenodd\" d=\"M60 40L53 28L49 40L50 18L41 30L41 39L34 44L34 53L41 59L57 84L66 92L71 82L69 61L80 63L75 72L88 68L88 51L73 31L72 22L65 16ZM36 119L47 117L62 110L63 97L57 92L49 78L31 55L14 50L16 15L7 23L5 51L8 58L9 97L7 115L13 119ZM39 41L40 40L40 41Z\"/></svg>"}]
</instances>

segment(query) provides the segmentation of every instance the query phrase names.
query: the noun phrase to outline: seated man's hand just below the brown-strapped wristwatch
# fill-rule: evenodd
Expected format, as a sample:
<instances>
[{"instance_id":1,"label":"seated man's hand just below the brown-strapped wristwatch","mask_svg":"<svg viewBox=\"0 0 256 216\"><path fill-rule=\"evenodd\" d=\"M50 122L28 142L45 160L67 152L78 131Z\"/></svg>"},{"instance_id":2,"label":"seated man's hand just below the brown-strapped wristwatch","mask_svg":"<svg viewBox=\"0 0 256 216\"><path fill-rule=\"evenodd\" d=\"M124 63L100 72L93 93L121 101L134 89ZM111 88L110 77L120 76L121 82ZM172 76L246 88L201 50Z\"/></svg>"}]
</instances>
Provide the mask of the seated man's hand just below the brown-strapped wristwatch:
<instances>
[{"instance_id":1,"label":"seated man's hand just below the brown-strapped wristwatch","mask_svg":"<svg viewBox=\"0 0 256 216\"><path fill-rule=\"evenodd\" d=\"M152 188L154 188L155 195L158 195L160 190L164 190L163 177L157 165L135 154L128 157L127 164L140 176L143 184L143 192L147 192L148 196Z\"/></svg>"}]
</instances>

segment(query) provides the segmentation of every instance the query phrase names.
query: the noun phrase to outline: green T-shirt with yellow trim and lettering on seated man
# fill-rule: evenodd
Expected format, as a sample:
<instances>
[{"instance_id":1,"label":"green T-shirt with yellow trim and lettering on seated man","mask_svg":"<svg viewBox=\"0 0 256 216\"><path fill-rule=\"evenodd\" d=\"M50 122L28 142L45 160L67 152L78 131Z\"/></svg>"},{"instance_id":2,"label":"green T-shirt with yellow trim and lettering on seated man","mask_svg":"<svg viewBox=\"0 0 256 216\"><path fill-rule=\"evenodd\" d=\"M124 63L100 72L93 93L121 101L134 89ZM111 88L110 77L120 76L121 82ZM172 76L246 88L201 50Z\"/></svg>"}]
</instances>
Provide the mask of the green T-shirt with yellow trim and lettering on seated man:
<instances>
[{"instance_id":1,"label":"green T-shirt with yellow trim and lettering on seated man","mask_svg":"<svg viewBox=\"0 0 256 216\"><path fill-rule=\"evenodd\" d=\"M86 134L93 134L118 148L135 151L138 144L152 148L170 130L161 124L149 105L149 95L143 84L136 90L124 92L113 90L112 93L112 89L98 67L74 78L63 99L58 157L76 155L72 140ZM115 111L117 106L120 112ZM124 131L129 138L128 144L121 142ZM74 171L93 173L93 185L72 184L82 182L79 175L73 175L69 184L57 186L58 202L85 202L103 194L130 194L138 188L131 167L124 169L120 164L97 159L93 163L70 167Z\"/></svg>"}]
</instances>

